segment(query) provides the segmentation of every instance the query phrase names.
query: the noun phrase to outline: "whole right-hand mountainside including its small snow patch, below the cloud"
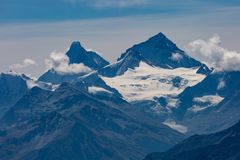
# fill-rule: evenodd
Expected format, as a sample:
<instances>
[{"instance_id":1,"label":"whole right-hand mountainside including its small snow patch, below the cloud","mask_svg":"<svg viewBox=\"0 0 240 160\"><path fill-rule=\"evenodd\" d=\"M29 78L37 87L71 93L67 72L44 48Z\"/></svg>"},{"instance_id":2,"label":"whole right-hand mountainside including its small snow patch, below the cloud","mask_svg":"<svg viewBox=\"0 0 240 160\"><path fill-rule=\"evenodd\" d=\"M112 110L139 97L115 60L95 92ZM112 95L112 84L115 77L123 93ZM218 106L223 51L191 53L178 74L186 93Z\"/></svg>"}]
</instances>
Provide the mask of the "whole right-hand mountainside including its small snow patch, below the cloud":
<instances>
[{"instance_id":1,"label":"whole right-hand mountainside including its small snow patch, below the cloud","mask_svg":"<svg viewBox=\"0 0 240 160\"><path fill-rule=\"evenodd\" d=\"M178 96L176 121L190 133L212 133L239 121L240 72L215 72ZM229 118L230 117L230 118Z\"/></svg>"}]
</instances>

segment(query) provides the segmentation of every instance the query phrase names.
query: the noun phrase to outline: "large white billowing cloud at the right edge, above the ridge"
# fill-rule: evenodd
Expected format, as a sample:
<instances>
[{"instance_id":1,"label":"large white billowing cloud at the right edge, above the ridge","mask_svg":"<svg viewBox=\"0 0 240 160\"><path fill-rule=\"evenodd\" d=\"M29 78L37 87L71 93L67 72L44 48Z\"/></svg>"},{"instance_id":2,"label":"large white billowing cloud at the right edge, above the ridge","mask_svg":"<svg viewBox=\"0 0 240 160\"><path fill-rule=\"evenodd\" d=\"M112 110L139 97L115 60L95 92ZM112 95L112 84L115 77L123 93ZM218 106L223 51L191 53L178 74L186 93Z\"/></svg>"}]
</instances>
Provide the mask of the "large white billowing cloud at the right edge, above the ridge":
<instances>
[{"instance_id":1,"label":"large white billowing cloud at the right edge, above the ridge","mask_svg":"<svg viewBox=\"0 0 240 160\"><path fill-rule=\"evenodd\" d=\"M221 47L221 39L218 35L206 41L195 40L188 45L187 50L194 58L215 68L225 71L240 71L240 53Z\"/></svg>"}]
</instances>

